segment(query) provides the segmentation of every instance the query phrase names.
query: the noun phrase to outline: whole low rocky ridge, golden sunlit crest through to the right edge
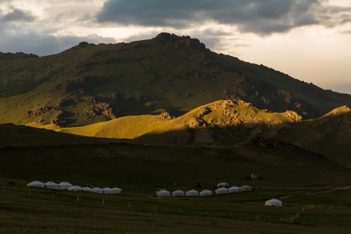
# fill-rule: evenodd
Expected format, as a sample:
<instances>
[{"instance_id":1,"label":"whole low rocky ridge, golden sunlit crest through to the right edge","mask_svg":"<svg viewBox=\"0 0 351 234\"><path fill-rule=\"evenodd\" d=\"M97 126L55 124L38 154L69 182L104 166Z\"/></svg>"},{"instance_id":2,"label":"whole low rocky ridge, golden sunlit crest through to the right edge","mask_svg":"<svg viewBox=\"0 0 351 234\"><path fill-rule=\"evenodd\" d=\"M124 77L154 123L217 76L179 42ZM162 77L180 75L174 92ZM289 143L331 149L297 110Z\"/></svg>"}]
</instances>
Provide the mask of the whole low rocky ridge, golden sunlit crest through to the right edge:
<instances>
[{"instance_id":1,"label":"whole low rocky ridge, golden sunlit crest through to the right edge","mask_svg":"<svg viewBox=\"0 0 351 234\"><path fill-rule=\"evenodd\" d=\"M28 125L87 137L135 139L147 144L220 146L263 137L301 146L351 166L351 108L348 106L336 108L319 119L303 120L294 111L271 113L245 101L222 100L195 108L180 117L164 112L120 117L73 128L35 122Z\"/></svg>"}]
</instances>

